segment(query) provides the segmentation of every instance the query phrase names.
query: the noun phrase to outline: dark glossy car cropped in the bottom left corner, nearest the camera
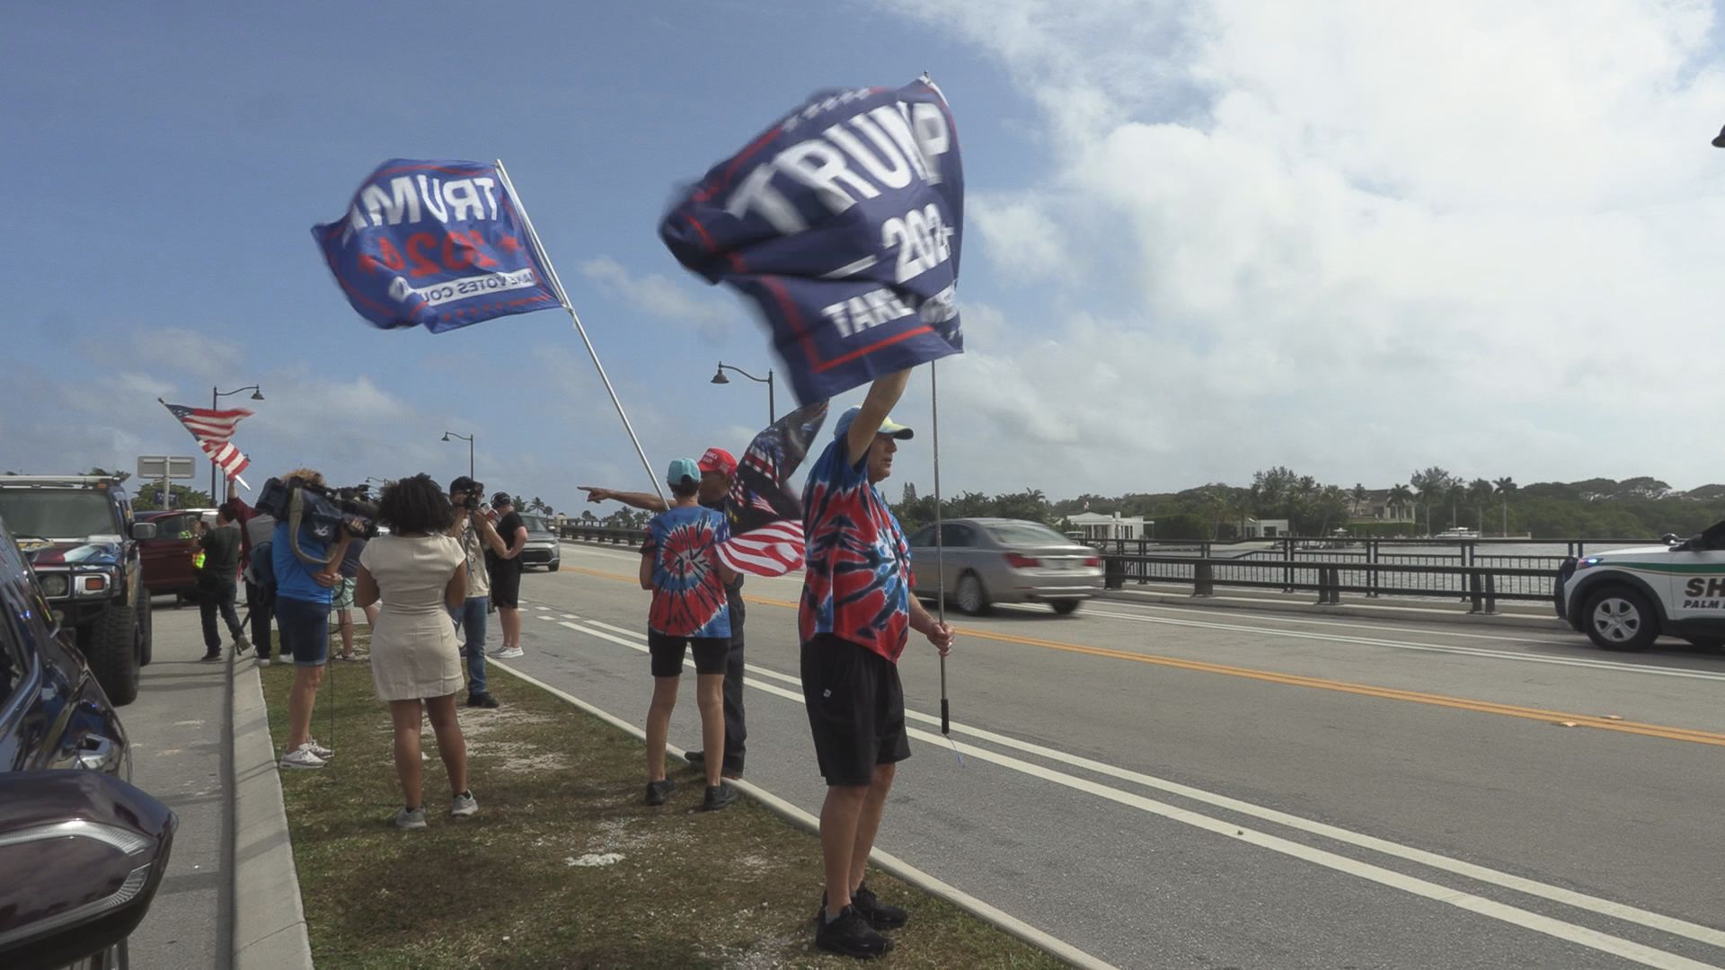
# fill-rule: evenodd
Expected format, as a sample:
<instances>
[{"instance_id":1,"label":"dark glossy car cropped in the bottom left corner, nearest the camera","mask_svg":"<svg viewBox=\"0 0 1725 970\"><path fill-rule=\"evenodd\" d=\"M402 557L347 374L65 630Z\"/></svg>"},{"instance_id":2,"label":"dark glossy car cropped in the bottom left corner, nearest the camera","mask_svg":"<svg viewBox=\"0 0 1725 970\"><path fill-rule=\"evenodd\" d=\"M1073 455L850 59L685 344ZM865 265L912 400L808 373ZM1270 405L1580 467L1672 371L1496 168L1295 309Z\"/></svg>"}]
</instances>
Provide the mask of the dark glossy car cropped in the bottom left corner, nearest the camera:
<instances>
[{"instance_id":1,"label":"dark glossy car cropped in the bottom left corner, nearest the camera","mask_svg":"<svg viewBox=\"0 0 1725 970\"><path fill-rule=\"evenodd\" d=\"M129 777L119 716L0 521L0 967L126 965L178 825Z\"/></svg>"}]
</instances>

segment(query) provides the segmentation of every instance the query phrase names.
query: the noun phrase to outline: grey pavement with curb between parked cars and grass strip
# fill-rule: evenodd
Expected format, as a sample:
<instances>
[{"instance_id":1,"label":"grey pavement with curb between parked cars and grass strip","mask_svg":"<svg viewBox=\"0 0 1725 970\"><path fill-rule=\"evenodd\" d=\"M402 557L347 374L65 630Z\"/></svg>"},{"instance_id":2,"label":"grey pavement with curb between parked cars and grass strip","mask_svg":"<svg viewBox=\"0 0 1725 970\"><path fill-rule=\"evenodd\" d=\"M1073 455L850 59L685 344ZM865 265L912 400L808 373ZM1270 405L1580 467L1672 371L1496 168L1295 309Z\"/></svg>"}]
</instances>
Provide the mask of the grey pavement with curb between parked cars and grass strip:
<instances>
[{"instance_id":1,"label":"grey pavement with curb between parked cars and grass strip","mask_svg":"<svg viewBox=\"0 0 1725 970\"><path fill-rule=\"evenodd\" d=\"M309 970L254 654L202 661L195 606L159 599L152 621L154 661L121 723L131 782L172 808L179 830L162 887L131 935L131 965Z\"/></svg>"}]
</instances>

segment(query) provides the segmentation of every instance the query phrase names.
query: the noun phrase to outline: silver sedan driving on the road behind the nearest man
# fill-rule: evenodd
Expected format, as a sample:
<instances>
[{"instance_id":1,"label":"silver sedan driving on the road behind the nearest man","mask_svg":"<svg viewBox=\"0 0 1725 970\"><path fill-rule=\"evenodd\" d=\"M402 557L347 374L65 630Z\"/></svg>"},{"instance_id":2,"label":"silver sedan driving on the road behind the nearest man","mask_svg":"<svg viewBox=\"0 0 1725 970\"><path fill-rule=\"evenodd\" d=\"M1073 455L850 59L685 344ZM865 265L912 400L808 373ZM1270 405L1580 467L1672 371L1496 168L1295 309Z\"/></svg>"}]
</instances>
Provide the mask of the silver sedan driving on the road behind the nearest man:
<instances>
[{"instance_id":1,"label":"silver sedan driving on the road behind the nearest man","mask_svg":"<svg viewBox=\"0 0 1725 970\"><path fill-rule=\"evenodd\" d=\"M1047 602L1071 613L1102 589L1102 559L1052 528L1023 520L949 520L911 537L916 595L945 592L973 616L994 602Z\"/></svg>"}]
</instances>

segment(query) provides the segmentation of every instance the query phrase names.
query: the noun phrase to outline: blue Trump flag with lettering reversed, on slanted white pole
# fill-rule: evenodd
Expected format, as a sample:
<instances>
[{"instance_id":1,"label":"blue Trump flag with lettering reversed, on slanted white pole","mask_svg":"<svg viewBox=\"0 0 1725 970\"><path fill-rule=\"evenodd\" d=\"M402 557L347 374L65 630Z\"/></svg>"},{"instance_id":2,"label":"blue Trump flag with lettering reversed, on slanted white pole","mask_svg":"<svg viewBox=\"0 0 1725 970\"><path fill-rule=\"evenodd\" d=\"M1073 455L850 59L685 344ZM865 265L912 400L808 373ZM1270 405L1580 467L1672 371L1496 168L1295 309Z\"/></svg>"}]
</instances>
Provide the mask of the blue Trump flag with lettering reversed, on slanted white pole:
<instances>
[{"instance_id":1,"label":"blue Trump flag with lettering reversed, on slanted white pole","mask_svg":"<svg viewBox=\"0 0 1725 970\"><path fill-rule=\"evenodd\" d=\"M390 159L312 236L347 302L383 330L562 305L495 164Z\"/></svg>"}]
</instances>

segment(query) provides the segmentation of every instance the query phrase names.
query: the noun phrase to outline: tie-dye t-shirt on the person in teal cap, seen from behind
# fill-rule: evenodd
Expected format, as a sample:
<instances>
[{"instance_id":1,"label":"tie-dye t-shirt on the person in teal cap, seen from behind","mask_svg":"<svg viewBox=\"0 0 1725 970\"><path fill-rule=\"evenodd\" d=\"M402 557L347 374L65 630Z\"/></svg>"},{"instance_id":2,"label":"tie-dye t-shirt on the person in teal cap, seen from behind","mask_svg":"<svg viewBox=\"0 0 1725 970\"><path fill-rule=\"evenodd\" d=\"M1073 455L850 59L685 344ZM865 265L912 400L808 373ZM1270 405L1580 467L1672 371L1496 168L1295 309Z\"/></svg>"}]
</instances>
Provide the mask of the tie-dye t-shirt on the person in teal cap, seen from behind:
<instances>
[{"instance_id":1,"label":"tie-dye t-shirt on the person in teal cap, seen from behind","mask_svg":"<svg viewBox=\"0 0 1725 970\"><path fill-rule=\"evenodd\" d=\"M724 514L680 506L647 525L642 556L652 556L652 609L647 627L668 637L731 635L718 545L731 537Z\"/></svg>"}]
</instances>

